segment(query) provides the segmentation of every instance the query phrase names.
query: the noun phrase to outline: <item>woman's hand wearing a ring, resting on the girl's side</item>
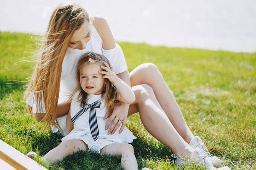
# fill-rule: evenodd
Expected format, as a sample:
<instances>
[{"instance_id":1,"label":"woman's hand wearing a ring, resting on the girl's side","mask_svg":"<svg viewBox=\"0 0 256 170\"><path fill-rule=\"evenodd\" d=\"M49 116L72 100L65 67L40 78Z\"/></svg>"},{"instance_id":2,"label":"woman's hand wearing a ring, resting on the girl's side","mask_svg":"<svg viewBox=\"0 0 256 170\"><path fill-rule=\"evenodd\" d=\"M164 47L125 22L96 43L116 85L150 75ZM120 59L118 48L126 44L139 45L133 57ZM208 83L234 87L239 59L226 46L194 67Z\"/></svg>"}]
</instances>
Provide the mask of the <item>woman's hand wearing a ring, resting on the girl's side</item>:
<instances>
[{"instance_id":1,"label":"woman's hand wearing a ring, resting on the girl's side","mask_svg":"<svg viewBox=\"0 0 256 170\"><path fill-rule=\"evenodd\" d=\"M130 105L126 103L122 103L121 105L115 105L112 114L109 111L105 114L103 119L107 119L109 117L108 122L105 126L105 130L108 130L108 134L113 135L121 124L122 127L120 128L119 133L122 133L125 128L129 106ZM119 120L122 120L122 123L118 122Z\"/></svg>"}]
</instances>

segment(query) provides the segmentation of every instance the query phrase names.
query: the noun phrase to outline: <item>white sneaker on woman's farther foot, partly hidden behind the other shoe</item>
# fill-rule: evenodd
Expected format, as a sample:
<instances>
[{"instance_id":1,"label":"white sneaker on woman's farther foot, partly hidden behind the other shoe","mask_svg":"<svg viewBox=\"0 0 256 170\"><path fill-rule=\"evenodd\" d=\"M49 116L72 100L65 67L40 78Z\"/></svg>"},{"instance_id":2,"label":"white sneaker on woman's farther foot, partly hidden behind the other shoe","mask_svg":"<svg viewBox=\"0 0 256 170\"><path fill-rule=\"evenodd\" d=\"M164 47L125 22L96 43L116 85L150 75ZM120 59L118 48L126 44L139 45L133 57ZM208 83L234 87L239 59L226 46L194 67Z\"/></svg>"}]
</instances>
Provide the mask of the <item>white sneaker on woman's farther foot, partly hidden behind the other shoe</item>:
<instances>
[{"instance_id":1,"label":"white sneaker on woman's farther foot, partly hidden behind the other shoe","mask_svg":"<svg viewBox=\"0 0 256 170\"><path fill-rule=\"evenodd\" d=\"M217 158L217 156L211 156L209 153L207 147L205 146L204 142L199 138L199 136L195 136L190 141L189 145L193 149L200 149L202 152L207 153L208 157L206 158L207 161L209 161L210 164L212 164L214 167L220 167L221 166L221 160Z\"/></svg>"}]
</instances>

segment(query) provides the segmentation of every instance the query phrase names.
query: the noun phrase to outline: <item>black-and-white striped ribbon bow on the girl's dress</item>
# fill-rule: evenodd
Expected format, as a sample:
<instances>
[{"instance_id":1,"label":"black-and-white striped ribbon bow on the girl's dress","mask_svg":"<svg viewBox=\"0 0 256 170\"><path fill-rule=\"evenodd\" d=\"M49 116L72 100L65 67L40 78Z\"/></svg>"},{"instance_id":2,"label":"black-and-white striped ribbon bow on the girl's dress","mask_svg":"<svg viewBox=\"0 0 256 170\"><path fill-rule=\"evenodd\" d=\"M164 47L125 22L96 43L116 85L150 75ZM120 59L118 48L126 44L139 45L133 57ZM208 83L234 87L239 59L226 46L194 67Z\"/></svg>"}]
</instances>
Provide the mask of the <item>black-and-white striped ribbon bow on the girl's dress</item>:
<instances>
[{"instance_id":1,"label":"black-and-white striped ribbon bow on the girl's dress","mask_svg":"<svg viewBox=\"0 0 256 170\"><path fill-rule=\"evenodd\" d=\"M97 100L96 102L93 102L92 104L87 104L86 102L81 102L80 105L83 109L79 111L76 116L74 116L71 119L71 122L74 123L79 116L81 116L84 112L88 111L90 109L89 113L89 125L90 125L90 131L93 136L93 140L96 141L99 137L99 128L98 128L98 123L97 123L97 118L96 118L96 110L95 108L100 107L100 100Z\"/></svg>"}]
</instances>

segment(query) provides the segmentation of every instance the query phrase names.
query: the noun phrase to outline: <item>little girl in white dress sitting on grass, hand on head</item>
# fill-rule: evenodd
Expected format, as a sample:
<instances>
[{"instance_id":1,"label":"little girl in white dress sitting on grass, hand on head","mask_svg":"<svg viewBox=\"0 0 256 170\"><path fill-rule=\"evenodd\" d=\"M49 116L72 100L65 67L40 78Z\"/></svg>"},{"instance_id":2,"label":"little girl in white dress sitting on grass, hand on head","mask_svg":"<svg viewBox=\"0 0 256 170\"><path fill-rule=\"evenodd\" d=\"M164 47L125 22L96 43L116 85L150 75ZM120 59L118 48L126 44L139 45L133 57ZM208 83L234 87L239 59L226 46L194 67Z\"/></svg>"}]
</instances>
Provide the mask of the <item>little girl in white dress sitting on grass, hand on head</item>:
<instances>
[{"instance_id":1,"label":"little girl in white dress sitting on grass, hand on head","mask_svg":"<svg viewBox=\"0 0 256 170\"><path fill-rule=\"evenodd\" d=\"M131 143L136 137L127 127L121 134L108 134L103 119L119 101L131 104L135 100L133 90L113 72L106 57L88 52L78 61L77 80L80 86L73 94L67 115L66 134L58 147L44 157L49 163L60 161L78 150L93 150L101 154L119 155L125 170L138 169ZM122 123L122 120L118 120ZM36 156L30 152L27 156ZM145 168L144 168L145 169Z\"/></svg>"}]
</instances>

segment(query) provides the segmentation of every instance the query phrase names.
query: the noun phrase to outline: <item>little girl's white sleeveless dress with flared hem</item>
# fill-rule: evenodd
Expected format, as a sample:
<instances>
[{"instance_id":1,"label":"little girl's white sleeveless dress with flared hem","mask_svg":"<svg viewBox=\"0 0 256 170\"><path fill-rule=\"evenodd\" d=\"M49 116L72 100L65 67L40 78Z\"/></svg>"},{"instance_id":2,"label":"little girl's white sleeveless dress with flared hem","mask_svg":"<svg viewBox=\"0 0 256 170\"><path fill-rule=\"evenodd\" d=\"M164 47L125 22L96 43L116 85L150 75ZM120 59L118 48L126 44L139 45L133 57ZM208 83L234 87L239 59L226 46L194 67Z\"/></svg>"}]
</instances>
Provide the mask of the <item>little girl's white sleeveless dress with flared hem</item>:
<instances>
[{"instance_id":1,"label":"little girl's white sleeveless dress with flared hem","mask_svg":"<svg viewBox=\"0 0 256 170\"><path fill-rule=\"evenodd\" d=\"M74 98L71 103L70 114L71 118L76 116L81 109L79 102L79 92L76 92ZM80 139L84 141L88 145L90 150L96 151L100 153L100 150L111 143L131 143L136 137L128 130L127 127L124 128L121 134L118 133L121 126L116 130L116 133L113 135L108 135L108 130L105 130L105 125L108 122L108 119L103 119L105 113L108 111L105 107L105 100L102 99L102 95L88 95L87 104L92 104L97 100L101 100L100 108L95 108L96 110L96 117L97 117L97 124L99 128L99 136L96 141L93 140L91 131L90 131L90 124L89 124L89 113L90 109L84 112L81 116L79 116L76 121L74 122L74 129L61 141L67 141L70 139Z\"/></svg>"}]
</instances>

